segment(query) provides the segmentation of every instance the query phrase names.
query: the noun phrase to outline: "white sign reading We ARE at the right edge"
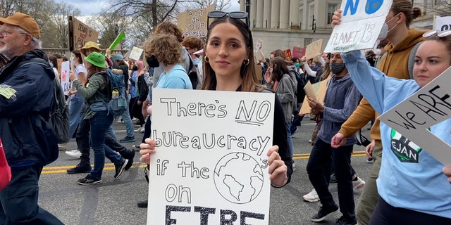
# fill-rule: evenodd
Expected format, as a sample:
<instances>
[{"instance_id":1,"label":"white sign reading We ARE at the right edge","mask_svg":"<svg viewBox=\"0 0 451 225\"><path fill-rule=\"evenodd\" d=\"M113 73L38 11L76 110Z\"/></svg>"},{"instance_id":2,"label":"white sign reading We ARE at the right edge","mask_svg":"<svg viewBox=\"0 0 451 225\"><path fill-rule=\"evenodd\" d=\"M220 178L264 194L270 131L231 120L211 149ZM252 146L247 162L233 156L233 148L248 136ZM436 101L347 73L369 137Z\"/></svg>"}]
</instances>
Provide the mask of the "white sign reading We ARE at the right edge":
<instances>
[{"instance_id":1,"label":"white sign reading We ARE at the right edge","mask_svg":"<svg viewBox=\"0 0 451 225\"><path fill-rule=\"evenodd\" d=\"M379 117L443 165L451 165L451 146L428 128L451 117L451 89L447 84L451 84L451 67Z\"/></svg>"}]
</instances>

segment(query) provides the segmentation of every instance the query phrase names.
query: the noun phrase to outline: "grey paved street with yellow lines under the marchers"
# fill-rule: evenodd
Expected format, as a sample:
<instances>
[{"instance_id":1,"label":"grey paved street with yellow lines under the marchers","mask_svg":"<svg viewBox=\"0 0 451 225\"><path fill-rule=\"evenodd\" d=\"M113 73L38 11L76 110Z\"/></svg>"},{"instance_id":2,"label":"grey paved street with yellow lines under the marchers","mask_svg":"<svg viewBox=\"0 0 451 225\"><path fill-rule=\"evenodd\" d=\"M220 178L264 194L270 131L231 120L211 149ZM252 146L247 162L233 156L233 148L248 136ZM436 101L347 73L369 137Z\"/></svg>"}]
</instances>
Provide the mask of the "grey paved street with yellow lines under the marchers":
<instances>
[{"instance_id":1,"label":"grey paved street with yellow lines under the marchers","mask_svg":"<svg viewBox=\"0 0 451 225\"><path fill-rule=\"evenodd\" d=\"M368 126L367 126L368 127ZM125 136L123 124L113 124L119 139ZM311 191L311 184L307 177L306 166L311 150L309 139L314 129L314 122L304 119L299 131L294 135L296 171L290 184L284 188L271 190L271 224L316 224L310 217L319 210L319 203L307 203L302 195ZM362 133L368 136L366 127ZM126 143L131 148L140 143L142 134L135 134L135 143ZM75 149L75 139L68 143L68 149ZM370 164L366 163L366 156L361 146L354 147L352 166L362 179L368 176ZM139 154L135 155L135 161ZM80 186L77 179L86 174L67 174L66 169L78 164L64 151L56 162L44 167L39 188L39 205L53 213L65 224L94 225L94 224L146 224L147 209L138 208L136 202L147 199L147 182L144 179L144 165L135 162L133 167L124 172L118 179L113 178L114 166L109 162L105 165L103 182L99 185ZM93 160L92 160L93 162ZM330 185L335 201L338 203L337 186ZM357 201L359 194L354 196ZM321 224L334 224L335 219Z\"/></svg>"}]
</instances>

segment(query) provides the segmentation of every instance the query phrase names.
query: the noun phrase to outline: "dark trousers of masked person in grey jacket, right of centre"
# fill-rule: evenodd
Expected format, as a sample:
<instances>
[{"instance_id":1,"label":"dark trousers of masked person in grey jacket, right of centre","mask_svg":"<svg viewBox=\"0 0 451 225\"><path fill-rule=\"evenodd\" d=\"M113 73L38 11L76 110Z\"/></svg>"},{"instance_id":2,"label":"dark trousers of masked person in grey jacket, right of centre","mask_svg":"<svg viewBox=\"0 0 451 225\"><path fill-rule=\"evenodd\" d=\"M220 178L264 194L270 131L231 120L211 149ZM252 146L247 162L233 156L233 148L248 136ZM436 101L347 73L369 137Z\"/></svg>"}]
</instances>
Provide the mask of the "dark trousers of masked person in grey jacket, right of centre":
<instances>
[{"instance_id":1,"label":"dark trousers of masked person in grey jacket, right of centre","mask_svg":"<svg viewBox=\"0 0 451 225\"><path fill-rule=\"evenodd\" d=\"M352 146L332 148L329 143L316 139L307 163L307 174L309 174L309 180L319 195L321 205L330 210L335 206L335 201L328 188L330 165L333 163L338 181L340 212L346 219L354 220L355 204L352 190L351 153ZM331 160L332 162L330 162Z\"/></svg>"}]
</instances>

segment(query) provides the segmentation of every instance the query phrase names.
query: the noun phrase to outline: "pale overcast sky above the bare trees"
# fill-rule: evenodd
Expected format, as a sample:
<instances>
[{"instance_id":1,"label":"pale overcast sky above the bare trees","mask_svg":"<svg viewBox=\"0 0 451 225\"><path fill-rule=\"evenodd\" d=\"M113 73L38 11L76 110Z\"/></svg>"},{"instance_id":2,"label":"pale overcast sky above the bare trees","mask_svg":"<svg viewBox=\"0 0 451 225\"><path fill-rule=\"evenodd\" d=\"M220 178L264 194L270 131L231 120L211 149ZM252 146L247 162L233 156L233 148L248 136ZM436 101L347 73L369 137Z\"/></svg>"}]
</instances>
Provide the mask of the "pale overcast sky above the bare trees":
<instances>
[{"instance_id":1,"label":"pale overcast sky above the bare trees","mask_svg":"<svg viewBox=\"0 0 451 225\"><path fill-rule=\"evenodd\" d=\"M79 8L82 12L81 15L93 15L96 13L100 13L102 8L106 8L109 6L109 1L106 0L90 0L90 1L80 1L80 0L55 0L58 2L66 2L67 4L71 4L76 8ZM230 8L227 11L240 11L240 4L238 4L237 0L230 1Z\"/></svg>"}]
</instances>

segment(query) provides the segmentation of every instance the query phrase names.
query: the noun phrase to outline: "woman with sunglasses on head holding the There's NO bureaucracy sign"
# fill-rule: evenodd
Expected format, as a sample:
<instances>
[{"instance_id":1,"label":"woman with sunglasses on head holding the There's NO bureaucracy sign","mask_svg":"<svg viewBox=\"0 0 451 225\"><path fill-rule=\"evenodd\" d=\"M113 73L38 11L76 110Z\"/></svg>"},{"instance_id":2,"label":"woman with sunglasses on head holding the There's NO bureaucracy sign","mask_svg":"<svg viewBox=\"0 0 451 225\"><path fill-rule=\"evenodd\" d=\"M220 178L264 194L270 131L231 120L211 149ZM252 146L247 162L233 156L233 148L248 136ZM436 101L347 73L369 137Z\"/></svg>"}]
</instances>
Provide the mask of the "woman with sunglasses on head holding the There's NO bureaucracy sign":
<instances>
[{"instance_id":1,"label":"woman with sunglasses on head holding the There's NO bureaucracy sign","mask_svg":"<svg viewBox=\"0 0 451 225\"><path fill-rule=\"evenodd\" d=\"M254 68L252 34L245 12L209 12L214 18L209 25L204 48L204 90L218 91L264 91L257 80ZM292 174L292 158L288 152L287 131L283 109L275 97L273 146L268 153L268 172L271 184L276 187L288 184ZM141 144L142 162L150 162L150 154L155 152L154 139L146 139Z\"/></svg>"}]
</instances>

